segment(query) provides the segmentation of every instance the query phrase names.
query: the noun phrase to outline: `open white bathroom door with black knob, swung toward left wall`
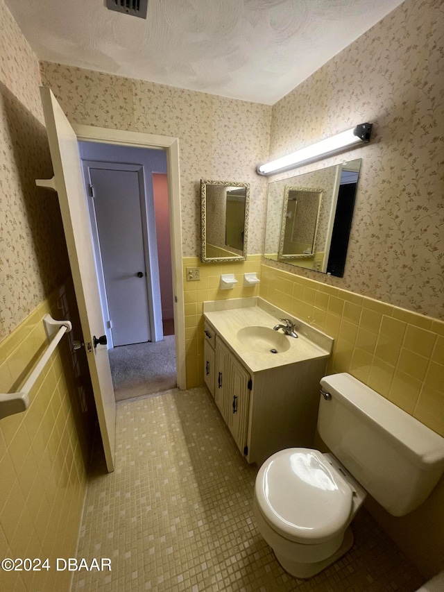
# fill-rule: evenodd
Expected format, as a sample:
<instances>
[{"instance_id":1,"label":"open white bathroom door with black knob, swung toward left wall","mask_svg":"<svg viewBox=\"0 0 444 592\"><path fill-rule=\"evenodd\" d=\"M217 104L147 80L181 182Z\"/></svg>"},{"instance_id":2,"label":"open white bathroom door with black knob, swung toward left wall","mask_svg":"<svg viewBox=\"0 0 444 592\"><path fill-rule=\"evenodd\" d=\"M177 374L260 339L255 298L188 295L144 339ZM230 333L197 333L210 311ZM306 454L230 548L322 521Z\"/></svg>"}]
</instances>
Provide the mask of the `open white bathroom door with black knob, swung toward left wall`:
<instances>
[{"instance_id":1,"label":"open white bathroom door with black knob, swung toward left wall","mask_svg":"<svg viewBox=\"0 0 444 592\"><path fill-rule=\"evenodd\" d=\"M114 471L116 404L108 349L106 345L94 346L94 337L105 335L105 328L77 136L51 90L40 88L40 94L106 466L111 472Z\"/></svg>"}]
</instances>

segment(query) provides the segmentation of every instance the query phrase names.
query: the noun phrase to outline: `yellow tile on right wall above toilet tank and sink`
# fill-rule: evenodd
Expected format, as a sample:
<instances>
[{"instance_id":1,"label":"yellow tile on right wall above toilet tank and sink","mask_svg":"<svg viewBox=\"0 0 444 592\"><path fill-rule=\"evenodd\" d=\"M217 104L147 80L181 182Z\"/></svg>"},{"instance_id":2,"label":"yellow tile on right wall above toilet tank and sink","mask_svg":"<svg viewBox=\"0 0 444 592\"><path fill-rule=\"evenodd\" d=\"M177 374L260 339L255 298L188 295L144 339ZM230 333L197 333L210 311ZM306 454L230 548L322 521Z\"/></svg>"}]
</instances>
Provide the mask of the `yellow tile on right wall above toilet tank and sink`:
<instances>
[{"instance_id":1,"label":"yellow tile on right wall above toilet tank and sink","mask_svg":"<svg viewBox=\"0 0 444 592\"><path fill-rule=\"evenodd\" d=\"M259 296L334 338L348 372L444 436L444 322L262 264Z\"/></svg>"}]
</instances>

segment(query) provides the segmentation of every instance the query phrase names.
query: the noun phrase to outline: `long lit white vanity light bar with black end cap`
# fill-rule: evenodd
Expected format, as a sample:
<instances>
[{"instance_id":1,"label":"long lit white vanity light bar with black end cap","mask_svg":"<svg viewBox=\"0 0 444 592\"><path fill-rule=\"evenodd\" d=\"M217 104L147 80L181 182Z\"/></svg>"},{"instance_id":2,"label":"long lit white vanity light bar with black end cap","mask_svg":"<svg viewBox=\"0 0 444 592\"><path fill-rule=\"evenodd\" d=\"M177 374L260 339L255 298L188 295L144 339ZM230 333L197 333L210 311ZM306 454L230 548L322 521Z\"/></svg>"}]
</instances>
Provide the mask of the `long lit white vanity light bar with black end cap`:
<instances>
[{"instance_id":1,"label":"long lit white vanity light bar with black end cap","mask_svg":"<svg viewBox=\"0 0 444 592\"><path fill-rule=\"evenodd\" d=\"M359 144L370 142L370 135L372 133L372 124L359 124L355 128L351 128L345 132L341 132L327 139L322 139L321 142L306 146L296 152L257 165L257 174L259 175L274 175L281 171L288 169L296 169L302 167L302 164L313 162L320 158L332 156L346 149L353 148Z\"/></svg>"}]
</instances>

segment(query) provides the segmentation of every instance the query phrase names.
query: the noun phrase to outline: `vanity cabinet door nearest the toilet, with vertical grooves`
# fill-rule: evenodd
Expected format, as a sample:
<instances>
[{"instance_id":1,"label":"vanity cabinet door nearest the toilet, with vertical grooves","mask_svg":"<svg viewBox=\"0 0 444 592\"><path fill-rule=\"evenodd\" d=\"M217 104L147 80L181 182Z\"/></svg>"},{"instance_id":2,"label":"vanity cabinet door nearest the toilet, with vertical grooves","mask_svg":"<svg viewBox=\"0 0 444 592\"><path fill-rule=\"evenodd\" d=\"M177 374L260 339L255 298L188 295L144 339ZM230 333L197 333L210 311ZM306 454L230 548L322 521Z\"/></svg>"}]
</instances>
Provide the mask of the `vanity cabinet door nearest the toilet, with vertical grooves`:
<instances>
[{"instance_id":1,"label":"vanity cabinet door nearest the toilet, with vertical grooves","mask_svg":"<svg viewBox=\"0 0 444 592\"><path fill-rule=\"evenodd\" d=\"M247 443L248 408L250 404L250 374L237 359L230 355L228 365L228 392L230 394L230 416L228 423L239 450L244 454Z\"/></svg>"}]
</instances>

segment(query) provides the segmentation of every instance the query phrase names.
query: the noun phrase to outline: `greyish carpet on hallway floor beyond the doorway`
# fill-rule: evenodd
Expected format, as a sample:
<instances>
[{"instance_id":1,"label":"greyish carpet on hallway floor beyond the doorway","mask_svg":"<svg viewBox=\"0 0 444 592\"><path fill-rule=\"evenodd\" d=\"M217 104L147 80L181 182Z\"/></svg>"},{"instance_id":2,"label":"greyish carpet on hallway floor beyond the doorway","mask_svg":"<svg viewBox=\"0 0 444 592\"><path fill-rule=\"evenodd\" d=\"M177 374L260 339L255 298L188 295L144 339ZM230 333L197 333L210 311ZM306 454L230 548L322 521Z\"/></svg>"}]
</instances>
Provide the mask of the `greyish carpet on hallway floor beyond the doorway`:
<instances>
[{"instance_id":1,"label":"greyish carpet on hallway floor beyond the doorway","mask_svg":"<svg viewBox=\"0 0 444 592\"><path fill-rule=\"evenodd\" d=\"M177 387L174 335L153 344L119 346L109 353L117 401Z\"/></svg>"}]
</instances>

